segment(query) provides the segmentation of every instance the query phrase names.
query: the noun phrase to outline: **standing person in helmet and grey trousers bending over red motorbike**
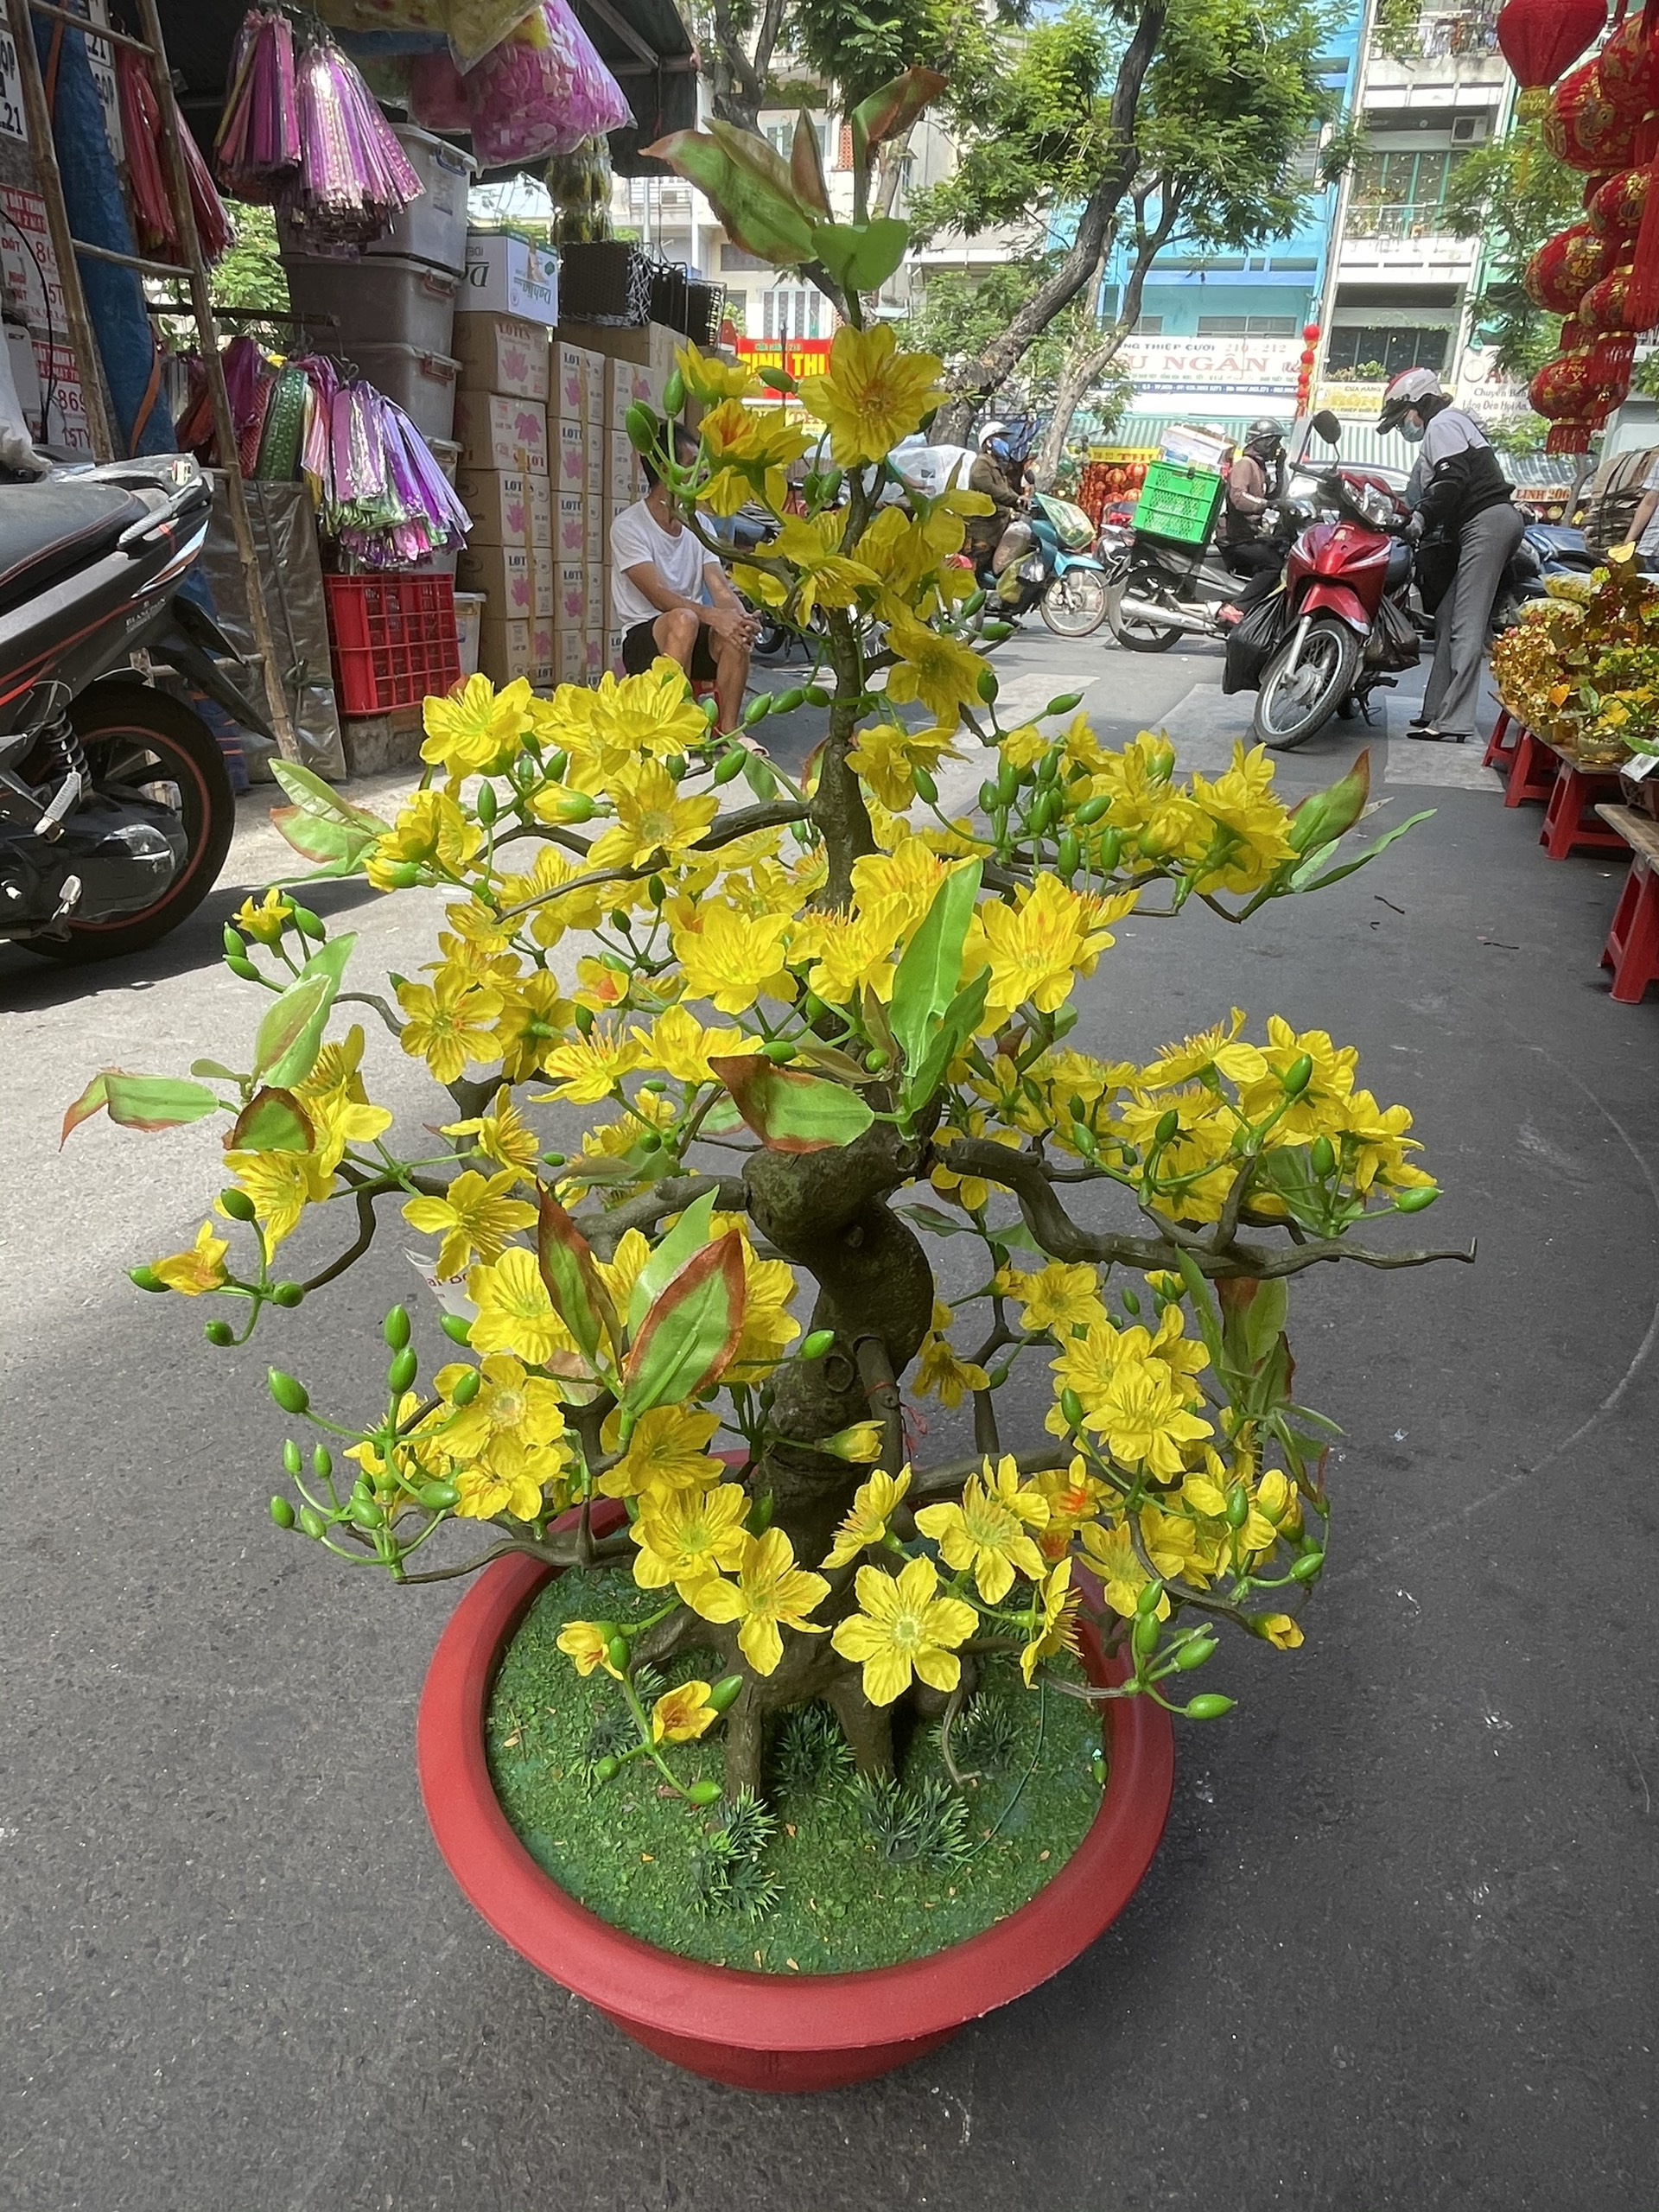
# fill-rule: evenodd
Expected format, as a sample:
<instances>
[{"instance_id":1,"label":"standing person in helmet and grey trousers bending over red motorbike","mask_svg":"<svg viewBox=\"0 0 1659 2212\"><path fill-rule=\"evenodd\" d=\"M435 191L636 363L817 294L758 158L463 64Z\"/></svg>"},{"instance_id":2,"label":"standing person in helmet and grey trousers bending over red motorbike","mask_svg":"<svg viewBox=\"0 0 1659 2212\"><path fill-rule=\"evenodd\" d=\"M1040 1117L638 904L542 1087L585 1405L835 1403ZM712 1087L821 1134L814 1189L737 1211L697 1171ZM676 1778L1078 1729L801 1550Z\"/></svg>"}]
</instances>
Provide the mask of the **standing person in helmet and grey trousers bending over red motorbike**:
<instances>
[{"instance_id":1,"label":"standing person in helmet and grey trousers bending over red motorbike","mask_svg":"<svg viewBox=\"0 0 1659 2212\"><path fill-rule=\"evenodd\" d=\"M1376 427L1418 447L1405 502L1418 533L1418 595L1436 617L1433 668L1407 734L1462 745L1480 708L1493 602L1524 524L1491 440L1433 369L1402 369Z\"/></svg>"}]
</instances>

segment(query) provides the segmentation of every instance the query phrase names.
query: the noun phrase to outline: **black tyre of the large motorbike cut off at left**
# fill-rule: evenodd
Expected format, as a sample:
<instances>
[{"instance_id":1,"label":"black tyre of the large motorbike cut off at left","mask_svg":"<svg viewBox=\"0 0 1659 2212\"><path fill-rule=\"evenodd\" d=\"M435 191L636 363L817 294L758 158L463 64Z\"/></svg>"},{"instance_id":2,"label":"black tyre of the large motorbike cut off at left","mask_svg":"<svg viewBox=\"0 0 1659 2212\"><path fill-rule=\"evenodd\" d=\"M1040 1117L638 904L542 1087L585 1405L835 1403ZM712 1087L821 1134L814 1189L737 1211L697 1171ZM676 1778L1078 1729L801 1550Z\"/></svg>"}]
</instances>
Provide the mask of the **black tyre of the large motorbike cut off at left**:
<instances>
[{"instance_id":1,"label":"black tyre of the large motorbike cut off at left","mask_svg":"<svg viewBox=\"0 0 1659 2212\"><path fill-rule=\"evenodd\" d=\"M177 929L212 889L237 827L237 796L219 743L188 706L146 684L95 684L69 710L93 783L108 799L148 799L184 827L186 863L139 914L71 922L66 938L22 938L44 960L115 960Z\"/></svg>"}]
</instances>

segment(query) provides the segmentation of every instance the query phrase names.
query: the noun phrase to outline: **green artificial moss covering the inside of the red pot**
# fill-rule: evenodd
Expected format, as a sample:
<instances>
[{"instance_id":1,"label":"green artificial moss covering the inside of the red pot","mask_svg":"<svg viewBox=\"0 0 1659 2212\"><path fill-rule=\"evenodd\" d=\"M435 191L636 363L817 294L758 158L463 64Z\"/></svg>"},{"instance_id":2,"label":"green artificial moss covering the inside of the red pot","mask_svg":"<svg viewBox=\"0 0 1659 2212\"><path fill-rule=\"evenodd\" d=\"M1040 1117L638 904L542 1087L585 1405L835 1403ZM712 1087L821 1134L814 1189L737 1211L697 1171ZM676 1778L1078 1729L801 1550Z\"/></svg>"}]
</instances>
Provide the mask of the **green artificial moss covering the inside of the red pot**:
<instances>
[{"instance_id":1,"label":"green artificial moss covering the inside of the red pot","mask_svg":"<svg viewBox=\"0 0 1659 2212\"><path fill-rule=\"evenodd\" d=\"M524 1847L588 1911L664 1951L721 1966L774 1973L845 1973L925 1958L978 1936L1048 1882L1099 1812L1099 1712L1082 1699L1031 1692L1006 1661L991 1661L980 1725L953 1734L958 1767L975 1763L960 1816L958 1858L907 1858L914 1836L891 1849L872 1827L867 1794L836 1770L814 1772L814 1750L838 1750L838 1732L805 1723L779 1747L768 1774L776 1832L745 1863L739 1896L774 1898L770 1909L708 1902L710 1851L730 1803L692 1812L648 1759L608 1781L591 1778L606 1750L637 1741L617 1683L602 1670L577 1677L557 1632L568 1619L641 1619L657 1593L626 1575L557 1575L509 1644L489 1705L487 1747L495 1794ZM659 1604L659 1599L657 1599ZM712 1655L690 1655L664 1686L717 1672ZM681 1783L721 1778L721 1736L668 1745ZM794 1756L790 1756L794 1752ZM900 1747L900 1809L916 1812L931 1785L933 1809L953 1792L938 1728L916 1728ZM712 1887L719 1887L714 1882Z\"/></svg>"}]
</instances>

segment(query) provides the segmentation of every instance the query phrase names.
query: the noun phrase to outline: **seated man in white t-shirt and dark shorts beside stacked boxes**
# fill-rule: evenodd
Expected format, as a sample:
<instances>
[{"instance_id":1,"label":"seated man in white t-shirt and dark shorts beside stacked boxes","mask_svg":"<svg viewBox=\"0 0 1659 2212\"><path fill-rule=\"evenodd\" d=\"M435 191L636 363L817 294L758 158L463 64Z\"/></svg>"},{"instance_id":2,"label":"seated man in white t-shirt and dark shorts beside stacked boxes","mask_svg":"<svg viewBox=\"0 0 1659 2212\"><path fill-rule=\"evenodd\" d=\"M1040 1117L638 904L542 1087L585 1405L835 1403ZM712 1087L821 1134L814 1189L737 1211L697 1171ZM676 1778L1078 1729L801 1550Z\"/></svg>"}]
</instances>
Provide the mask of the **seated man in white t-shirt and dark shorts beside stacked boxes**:
<instances>
[{"instance_id":1,"label":"seated man in white t-shirt and dark shorts beside stacked boxes","mask_svg":"<svg viewBox=\"0 0 1659 2212\"><path fill-rule=\"evenodd\" d=\"M686 529L668 484L644 458L650 489L611 524L611 606L622 626L622 666L641 675L666 653L697 684L712 684L721 730L743 717L757 622L719 560ZM708 515L697 518L714 535Z\"/></svg>"}]
</instances>

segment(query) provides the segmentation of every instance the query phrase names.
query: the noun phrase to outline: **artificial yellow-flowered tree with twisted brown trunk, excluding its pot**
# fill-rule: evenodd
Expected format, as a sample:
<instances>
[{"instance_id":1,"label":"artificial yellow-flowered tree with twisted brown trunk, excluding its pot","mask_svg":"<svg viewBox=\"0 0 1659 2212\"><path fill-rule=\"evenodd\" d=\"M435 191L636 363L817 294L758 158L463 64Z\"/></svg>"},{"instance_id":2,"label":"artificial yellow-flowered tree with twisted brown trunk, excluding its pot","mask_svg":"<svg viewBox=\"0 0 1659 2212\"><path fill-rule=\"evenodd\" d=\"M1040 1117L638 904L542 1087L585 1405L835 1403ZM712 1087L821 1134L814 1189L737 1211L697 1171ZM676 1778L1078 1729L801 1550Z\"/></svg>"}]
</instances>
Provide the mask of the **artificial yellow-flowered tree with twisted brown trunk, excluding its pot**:
<instances>
[{"instance_id":1,"label":"artificial yellow-flowered tree with twisted brown trunk, excluding its pot","mask_svg":"<svg viewBox=\"0 0 1659 2212\"><path fill-rule=\"evenodd\" d=\"M860 161L883 113L860 111ZM810 126L792 166L741 133L703 144L670 150L728 228L827 270L847 319L801 387L684 347L666 405L703 407L692 462L655 418L633 429L688 513L759 498L779 518L737 575L814 668L750 712L827 708L807 770L719 737L670 661L551 699L480 677L429 699L429 774L392 825L283 765L288 836L323 874L447 898L418 980L354 991L449 1091L438 1152L396 1144L363 1031L330 1033L352 938L283 891L228 933L268 993L237 1064L106 1071L69 1126L228 1119L217 1221L135 1270L237 1314L212 1343L343 1276L387 1217L429 1239L453 1356L422 1378L394 1307L367 1420L272 1369L319 1427L310 1453L290 1442L272 1517L398 1582L507 1551L630 1571L661 1604L560 1641L622 1683L641 1756L723 1721L737 1792L812 1699L867 1774L891 1767L905 1701L947 1712L949 1761L987 1652L1075 1697L1177 1703L1221 1624L1298 1644L1332 1431L1292 1398L1285 1285L1433 1256L1345 1241L1433 1183L1407 1110L1321 1031L1250 1037L1232 1013L1146 1064L1075 1031L1121 916L1243 918L1358 867L1334 847L1365 768L1287 810L1261 752L1177 779L1164 737L1108 750L1073 699L1004 728L980 648L1006 628L956 560L980 502L878 498L940 398L940 363L860 319L898 226L827 219ZM785 471L825 431L785 513ZM978 807L947 812L938 779L975 754ZM580 1152L551 1150L546 1102L593 1115ZM349 1241L290 1283L307 1212ZM951 1298L940 1239L971 1254ZM1004 1436L1011 1378L1044 1369L1046 1420ZM973 1449L916 1464L902 1389L971 1407ZM434 1540L465 1522L487 1542L458 1559ZM1060 1663L1082 1615L1126 1655L1115 1690ZM686 1655L710 1661L635 1692Z\"/></svg>"}]
</instances>

